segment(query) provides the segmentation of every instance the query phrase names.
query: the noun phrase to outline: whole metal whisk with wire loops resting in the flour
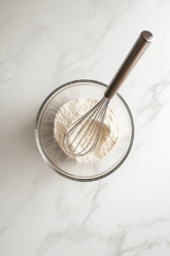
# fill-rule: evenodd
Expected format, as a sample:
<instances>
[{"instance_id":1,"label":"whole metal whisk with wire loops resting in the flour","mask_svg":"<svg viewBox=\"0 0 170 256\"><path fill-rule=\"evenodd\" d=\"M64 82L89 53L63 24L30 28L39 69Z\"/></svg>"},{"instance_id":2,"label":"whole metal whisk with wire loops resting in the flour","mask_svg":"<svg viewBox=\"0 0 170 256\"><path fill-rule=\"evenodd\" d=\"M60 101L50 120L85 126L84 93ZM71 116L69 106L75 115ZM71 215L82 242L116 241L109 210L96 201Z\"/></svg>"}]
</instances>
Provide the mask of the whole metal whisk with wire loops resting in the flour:
<instances>
[{"instance_id":1,"label":"whole metal whisk with wire loops resting in the flour","mask_svg":"<svg viewBox=\"0 0 170 256\"><path fill-rule=\"evenodd\" d=\"M72 156L82 156L89 154L96 148L102 125L105 119L105 113L110 100L116 94L119 86L132 70L133 66L144 53L147 46L154 41L152 33L148 31L141 32L139 38L128 53L122 66L118 69L115 77L107 87L104 97L85 113L80 119L71 125L71 129L65 134L63 146L65 151Z\"/></svg>"}]
</instances>

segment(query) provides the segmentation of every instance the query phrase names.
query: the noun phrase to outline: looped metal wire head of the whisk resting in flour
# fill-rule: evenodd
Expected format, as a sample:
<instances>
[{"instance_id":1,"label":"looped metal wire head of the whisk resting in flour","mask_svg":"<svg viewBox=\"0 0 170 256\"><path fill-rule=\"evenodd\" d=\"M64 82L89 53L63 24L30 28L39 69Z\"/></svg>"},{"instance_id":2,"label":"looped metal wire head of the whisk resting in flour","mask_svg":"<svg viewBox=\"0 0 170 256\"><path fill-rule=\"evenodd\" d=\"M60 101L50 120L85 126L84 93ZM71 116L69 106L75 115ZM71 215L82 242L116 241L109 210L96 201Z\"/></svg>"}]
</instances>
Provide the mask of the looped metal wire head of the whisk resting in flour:
<instances>
[{"instance_id":1,"label":"looped metal wire head of the whisk resting in flour","mask_svg":"<svg viewBox=\"0 0 170 256\"><path fill-rule=\"evenodd\" d=\"M71 129L63 139L63 146L68 154L82 156L94 151L99 141L109 102L110 99L104 96L94 108L71 125Z\"/></svg>"}]
</instances>

